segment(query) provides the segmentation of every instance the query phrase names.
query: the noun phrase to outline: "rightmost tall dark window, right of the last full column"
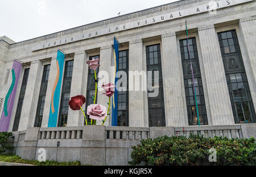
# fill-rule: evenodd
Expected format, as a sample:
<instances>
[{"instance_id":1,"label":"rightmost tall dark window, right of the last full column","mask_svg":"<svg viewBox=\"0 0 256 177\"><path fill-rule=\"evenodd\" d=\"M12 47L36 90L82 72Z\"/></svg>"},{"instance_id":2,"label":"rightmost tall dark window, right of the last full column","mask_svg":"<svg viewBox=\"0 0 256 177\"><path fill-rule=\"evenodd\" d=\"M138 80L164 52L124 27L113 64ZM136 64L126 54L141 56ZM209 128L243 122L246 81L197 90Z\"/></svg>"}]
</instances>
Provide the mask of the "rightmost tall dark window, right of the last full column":
<instances>
[{"instance_id":1,"label":"rightmost tall dark window, right of the last full column","mask_svg":"<svg viewBox=\"0 0 256 177\"><path fill-rule=\"evenodd\" d=\"M255 109L247 82L236 30L218 33L234 121L255 123Z\"/></svg>"}]
</instances>

